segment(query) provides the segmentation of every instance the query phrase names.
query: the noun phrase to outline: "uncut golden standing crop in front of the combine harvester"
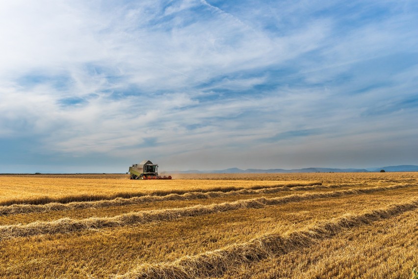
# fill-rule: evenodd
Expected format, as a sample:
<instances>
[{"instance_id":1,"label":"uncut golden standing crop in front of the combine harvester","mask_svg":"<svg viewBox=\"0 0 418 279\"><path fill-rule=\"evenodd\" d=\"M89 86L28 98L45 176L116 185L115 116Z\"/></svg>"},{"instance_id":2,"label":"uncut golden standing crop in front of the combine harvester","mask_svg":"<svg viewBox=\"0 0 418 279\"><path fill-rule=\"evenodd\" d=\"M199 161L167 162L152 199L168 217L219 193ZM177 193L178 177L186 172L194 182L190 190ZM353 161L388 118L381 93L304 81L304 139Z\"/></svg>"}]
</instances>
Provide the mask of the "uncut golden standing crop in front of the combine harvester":
<instances>
[{"instance_id":1,"label":"uncut golden standing crop in front of the combine harvester","mask_svg":"<svg viewBox=\"0 0 418 279\"><path fill-rule=\"evenodd\" d=\"M122 175L121 175L122 176ZM0 205L15 203L45 204L75 201L99 201L147 195L184 194L189 192L235 191L267 187L294 187L315 185L318 181L268 181L268 180L151 180L146 187L137 181L100 178L46 178L41 176L0 176Z\"/></svg>"}]
</instances>

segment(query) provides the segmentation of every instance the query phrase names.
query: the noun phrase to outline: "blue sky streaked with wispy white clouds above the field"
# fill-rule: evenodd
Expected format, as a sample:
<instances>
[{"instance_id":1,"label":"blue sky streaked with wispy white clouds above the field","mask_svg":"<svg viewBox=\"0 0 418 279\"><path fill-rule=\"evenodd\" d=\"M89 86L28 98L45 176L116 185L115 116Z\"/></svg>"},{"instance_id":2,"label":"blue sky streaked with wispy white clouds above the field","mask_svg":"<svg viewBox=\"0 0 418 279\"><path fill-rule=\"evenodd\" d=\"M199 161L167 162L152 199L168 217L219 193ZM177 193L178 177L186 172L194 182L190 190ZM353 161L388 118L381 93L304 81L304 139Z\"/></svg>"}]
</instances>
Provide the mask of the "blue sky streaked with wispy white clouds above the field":
<instances>
[{"instance_id":1,"label":"blue sky streaked with wispy white clouds above the field","mask_svg":"<svg viewBox=\"0 0 418 279\"><path fill-rule=\"evenodd\" d=\"M2 1L0 173L418 164L418 2Z\"/></svg>"}]
</instances>

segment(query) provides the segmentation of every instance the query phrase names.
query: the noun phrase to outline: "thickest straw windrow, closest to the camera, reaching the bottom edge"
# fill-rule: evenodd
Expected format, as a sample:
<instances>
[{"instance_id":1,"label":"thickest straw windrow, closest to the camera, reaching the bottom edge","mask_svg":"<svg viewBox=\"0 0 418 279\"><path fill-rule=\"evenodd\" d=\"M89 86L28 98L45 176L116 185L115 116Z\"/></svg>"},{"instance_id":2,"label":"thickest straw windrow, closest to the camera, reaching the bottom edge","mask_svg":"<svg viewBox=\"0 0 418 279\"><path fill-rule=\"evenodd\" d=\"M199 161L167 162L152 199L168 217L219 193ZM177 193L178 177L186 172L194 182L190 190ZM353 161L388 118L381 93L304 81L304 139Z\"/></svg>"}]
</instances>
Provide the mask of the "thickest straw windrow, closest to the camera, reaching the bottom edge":
<instances>
[{"instance_id":1,"label":"thickest straw windrow, closest to the camera, reaching the bottom edge","mask_svg":"<svg viewBox=\"0 0 418 279\"><path fill-rule=\"evenodd\" d=\"M144 263L114 279L197 279L219 277L228 269L242 263L256 262L268 256L287 254L291 251L310 247L325 238L372 222L389 219L407 211L416 210L418 200L392 204L361 214L344 214L318 225L286 234L267 233L248 242L233 244L224 248L193 256L183 256L173 262L156 264Z\"/></svg>"}]
</instances>

